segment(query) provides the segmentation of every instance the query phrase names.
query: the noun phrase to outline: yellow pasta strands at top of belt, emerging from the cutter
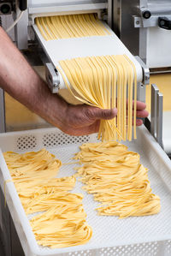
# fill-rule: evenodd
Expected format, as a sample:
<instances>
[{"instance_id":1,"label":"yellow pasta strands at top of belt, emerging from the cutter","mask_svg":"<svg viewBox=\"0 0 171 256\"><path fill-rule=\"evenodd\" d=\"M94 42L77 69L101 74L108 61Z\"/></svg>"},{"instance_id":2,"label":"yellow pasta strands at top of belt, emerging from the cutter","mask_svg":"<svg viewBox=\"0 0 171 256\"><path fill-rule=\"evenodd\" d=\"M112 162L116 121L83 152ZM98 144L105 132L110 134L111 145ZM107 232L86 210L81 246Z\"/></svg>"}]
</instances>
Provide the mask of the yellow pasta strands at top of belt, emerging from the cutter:
<instances>
[{"instance_id":1,"label":"yellow pasta strands at top of belt, emerging from the cutter","mask_svg":"<svg viewBox=\"0 0 171 256\"><path fill-rule=\"evenodd\" d=\"M45 40L109 35L96 14L38 17L35 23Z\"/></svg>"}]
</instances>

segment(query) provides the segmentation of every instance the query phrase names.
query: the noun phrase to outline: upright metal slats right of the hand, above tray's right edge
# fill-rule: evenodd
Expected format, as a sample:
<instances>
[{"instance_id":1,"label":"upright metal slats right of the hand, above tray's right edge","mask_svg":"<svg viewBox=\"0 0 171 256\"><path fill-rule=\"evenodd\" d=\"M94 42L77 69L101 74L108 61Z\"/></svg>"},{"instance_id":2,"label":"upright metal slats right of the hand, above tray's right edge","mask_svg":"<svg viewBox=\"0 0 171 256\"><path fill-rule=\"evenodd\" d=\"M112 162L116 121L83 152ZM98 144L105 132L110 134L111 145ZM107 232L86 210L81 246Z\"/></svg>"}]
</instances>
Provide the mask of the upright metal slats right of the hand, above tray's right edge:
<instances>
[{"instance_id":1,"label":"upright metal slats right of the hand, above tray's right edge","mask_svg":"<svg viewBox=\"0 0 171 256\"><path fill-rule=\"evenodd\" d=\"M150 133L163 148L162 144L162 102L163 95L156 85L151 85Z\"/></svg>"}]
</instances>

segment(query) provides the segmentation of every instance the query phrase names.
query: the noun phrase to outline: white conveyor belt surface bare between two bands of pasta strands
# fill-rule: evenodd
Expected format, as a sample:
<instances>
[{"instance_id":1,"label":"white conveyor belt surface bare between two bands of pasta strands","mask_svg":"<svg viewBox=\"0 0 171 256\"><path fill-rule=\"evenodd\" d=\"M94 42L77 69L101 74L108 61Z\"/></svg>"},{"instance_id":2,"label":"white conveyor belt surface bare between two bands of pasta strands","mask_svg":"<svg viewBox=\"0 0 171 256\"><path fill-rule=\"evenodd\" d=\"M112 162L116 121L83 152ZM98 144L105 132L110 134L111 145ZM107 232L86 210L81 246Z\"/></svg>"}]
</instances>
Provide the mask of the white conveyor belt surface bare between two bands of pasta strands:
<instances>
[{"instance_id":1,"label":"white conveyor belt surface bare between two bands of pasta strands","mask_svg":"<svg viewBox=\"0 0 171 256\"><path fill-rule=\"evenodd\" d=\"M74 39L55 39L50 41L44 39L39 32L37 25L34 24L32 27L37 34L45 53L50 58L50 62L53 63L55 67L59 66L59 61L74 57L126 54L127 57L133 61L137 70L138 81L141 82L143 80L143 72L139 62L133 57L131 52L127 50L127 47L122 44L121 40L118 39L109 26L104 22L103 24L108 28L111 35ZM64 82L63 86L65 86Z\"/></svg>"}]
</instances>

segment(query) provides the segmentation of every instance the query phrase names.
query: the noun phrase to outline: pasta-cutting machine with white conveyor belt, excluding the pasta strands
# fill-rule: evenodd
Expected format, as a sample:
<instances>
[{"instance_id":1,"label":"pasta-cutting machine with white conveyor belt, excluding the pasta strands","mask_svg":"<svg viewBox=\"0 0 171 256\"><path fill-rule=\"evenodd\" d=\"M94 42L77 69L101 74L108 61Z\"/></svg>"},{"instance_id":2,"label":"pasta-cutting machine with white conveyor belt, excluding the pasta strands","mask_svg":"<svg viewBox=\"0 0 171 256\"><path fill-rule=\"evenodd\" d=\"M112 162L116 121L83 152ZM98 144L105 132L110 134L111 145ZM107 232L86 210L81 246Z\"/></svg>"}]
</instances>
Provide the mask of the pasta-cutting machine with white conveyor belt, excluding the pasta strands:
<instances>
[{"instance_id":1,"label":"pasta-cutting machine with white conveyor belt, excluding the pasta strands","mask_svg":"<svg viewBox=\"0 0 171 256\"><path fill-rule=\"evenodd\" d=\"M8 3L8 1L6 1ZM136 66L138 74L138 99L145 101L145 85L149 84L150 74L149 69L144 65L143 61L137 57L133 57L132 53L127 50L127 47L121 43L112 31L114 21L115 4L108 0L28 0L12 1L11 10L18 17L21 13L21 19L15 26L15 33L12 35L19 49L27 49L32 42L38 42L38 48L43 51L41 56L46 67L46 80L50 90L53 93L58 92L66 87L62 80L62 76L56 70L57 63L68 57L85 57L92 55L108 55L108 54L124 54L130 57ZM73 39L67 40L52 40L45 41L35 25L35 18L38 16L47 15L68 15L68 14L84 14L97 13L98 18L105 22L113 37L112 42L106 39ZM5 23L5 22L4 22ZM8 27L8 26L7 26ZM109 45L110 44L110 45ZM81 45L81 46L80 46ZM103 47L109 45L109 47Z\"/></svg>"}]
</instances>

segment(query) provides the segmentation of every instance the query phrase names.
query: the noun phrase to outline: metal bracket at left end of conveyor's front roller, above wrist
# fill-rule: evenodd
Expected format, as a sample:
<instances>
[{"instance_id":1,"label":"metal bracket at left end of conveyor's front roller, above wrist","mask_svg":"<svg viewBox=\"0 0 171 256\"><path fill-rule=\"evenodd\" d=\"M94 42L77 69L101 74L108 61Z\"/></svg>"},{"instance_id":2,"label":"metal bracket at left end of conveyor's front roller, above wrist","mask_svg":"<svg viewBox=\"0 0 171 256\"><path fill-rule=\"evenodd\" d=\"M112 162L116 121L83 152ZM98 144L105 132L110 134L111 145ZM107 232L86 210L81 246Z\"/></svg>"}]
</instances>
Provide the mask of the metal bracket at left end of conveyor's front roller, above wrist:
<instances>
[{"instance_id":1,"label":"metal bracket at left end of conveyor's front roller, above wrist","mask_svg":"<svg viewBox=\"0 0 171 256\"><path fill-rule=\"evenodd\" d=\"M60 89L60 79L56 68L52 63L45 64L45 77L52 93L57 93Z\"/></svg>"}]
</instances>

